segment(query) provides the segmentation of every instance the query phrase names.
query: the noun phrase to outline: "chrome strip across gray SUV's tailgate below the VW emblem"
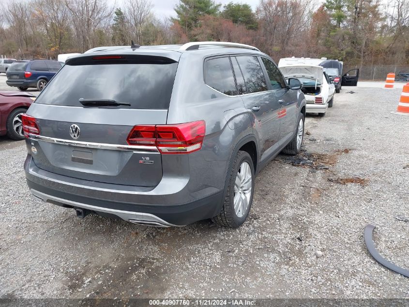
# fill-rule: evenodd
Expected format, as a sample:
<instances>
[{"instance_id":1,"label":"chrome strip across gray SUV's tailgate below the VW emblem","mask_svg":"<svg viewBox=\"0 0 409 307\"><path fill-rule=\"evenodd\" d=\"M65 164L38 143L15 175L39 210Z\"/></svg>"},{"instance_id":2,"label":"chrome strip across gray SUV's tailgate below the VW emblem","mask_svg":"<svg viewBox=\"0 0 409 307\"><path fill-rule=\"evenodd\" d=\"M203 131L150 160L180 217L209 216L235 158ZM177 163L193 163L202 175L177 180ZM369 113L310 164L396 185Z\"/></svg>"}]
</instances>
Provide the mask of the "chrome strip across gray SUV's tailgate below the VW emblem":
<instances>
[{"instance_id":1,"label":"chrome strip across gray SUV's tailgate below the VW emblem","mask_svg":"<svg viewBox=\"0 0 409 307\"><path fill-rule=\"evenodd\" d=\"M97 148L97 149L109 149L109 150L129 150L129 151L141 151L150 153L159 153L158 148L152 146L143 145L119 145L119 144L103 144L103 143L91 143L91 142L80 142L71 141L64 139L51 138L43 135L36 135L29 133L29 138L33 140L40 140L48 143L68 145L74 147L85 147L85 148Z\"/></svg>"}]
</instances>

